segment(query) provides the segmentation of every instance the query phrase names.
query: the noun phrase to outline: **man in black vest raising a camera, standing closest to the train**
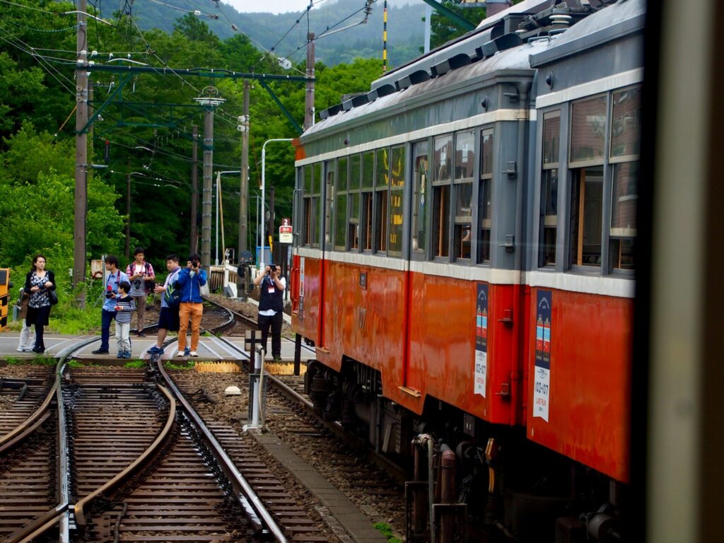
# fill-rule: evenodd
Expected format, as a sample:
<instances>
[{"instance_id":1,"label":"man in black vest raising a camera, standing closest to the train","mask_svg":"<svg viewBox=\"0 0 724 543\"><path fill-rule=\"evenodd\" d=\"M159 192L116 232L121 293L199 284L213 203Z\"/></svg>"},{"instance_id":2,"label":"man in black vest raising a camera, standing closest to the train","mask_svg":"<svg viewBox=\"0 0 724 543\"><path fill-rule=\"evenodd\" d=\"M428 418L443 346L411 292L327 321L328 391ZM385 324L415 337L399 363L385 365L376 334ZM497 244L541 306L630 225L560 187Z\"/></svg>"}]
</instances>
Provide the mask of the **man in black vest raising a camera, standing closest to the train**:
<instances>
[{"instance_id":1,"label":"man in black vest raising a camera, standing closest to the train","mask_svg":"<svg viewBox=\"0 0 724 543\"><path fill-rule=\"evenodd\" d=\"M266 266L264 274L258 274L254 285L259 287L258 327L261 330L261 345L266 350L266 338L271 327L271 356L274 362L282 361L282 324L284 322L284 291L286 279L282 276L282 267Z\"/></svg>"}]
</instances>

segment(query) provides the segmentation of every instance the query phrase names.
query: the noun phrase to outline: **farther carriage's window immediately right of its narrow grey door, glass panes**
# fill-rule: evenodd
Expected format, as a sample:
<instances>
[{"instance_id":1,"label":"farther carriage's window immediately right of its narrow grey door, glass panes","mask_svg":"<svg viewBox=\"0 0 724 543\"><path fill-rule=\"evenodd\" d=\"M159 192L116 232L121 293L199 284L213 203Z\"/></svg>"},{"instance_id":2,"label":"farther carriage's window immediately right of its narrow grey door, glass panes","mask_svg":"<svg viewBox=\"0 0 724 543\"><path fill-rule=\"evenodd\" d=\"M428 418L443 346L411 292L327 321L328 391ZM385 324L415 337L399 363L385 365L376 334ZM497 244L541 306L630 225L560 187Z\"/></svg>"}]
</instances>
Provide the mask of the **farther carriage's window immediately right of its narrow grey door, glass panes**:
<instances>
[{"instance_id":1,"label":"farther carriage's window immediately right of its narrow grey door, glass panes","mask_svg":"<svg viewBox=\"0 0 724 543\"><path fill-rule=\"evenodd\" d=\"M450 171L452 136L434 139L432 180L432 256L448 256L450 244Z\"/></svg>"}]
</instances>

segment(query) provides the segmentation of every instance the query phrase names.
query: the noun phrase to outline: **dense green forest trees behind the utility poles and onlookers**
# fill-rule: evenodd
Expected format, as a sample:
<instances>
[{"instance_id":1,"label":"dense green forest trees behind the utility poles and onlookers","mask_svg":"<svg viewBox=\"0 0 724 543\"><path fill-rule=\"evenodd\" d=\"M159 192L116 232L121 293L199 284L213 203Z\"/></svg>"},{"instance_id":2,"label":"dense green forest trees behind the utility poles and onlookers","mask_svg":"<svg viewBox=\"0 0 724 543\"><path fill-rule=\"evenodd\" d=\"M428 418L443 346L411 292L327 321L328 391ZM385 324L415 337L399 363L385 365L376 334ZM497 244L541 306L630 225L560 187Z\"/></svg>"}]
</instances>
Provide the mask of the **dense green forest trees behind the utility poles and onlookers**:
<instances>
[{"instance_id":1,"label":"dense green forest trees behind the utility poles and onlookers","mask_svg":"<svg viewBox=\"0 0 724 543\"><path fill-rule=\"evenodd\" d=\"M71 2L16 0L0 11L0 266L14 267L17 272L28 269L36 252L46 253L53 269L72 267L76 26L75 14L60 13L74 9ZM169 68L239 70L256 65L259 73L282 72L270 59L259 62L260 51L245 36L222 40L206 22L181 15L170 32L140 30L135 20L122 14L117 14L112 26L89 21L85 39L93 62L159 68L157 73L133 75L118 93L122 75L91 72L92 105L102 110L88 138L89 163L99 166L88 169L89 260L103 253L122 255L127 220L131 249L143 245L154 264L160 266L170 252L188 253L193 125L203 138L203 111L195 107L193 98L209 85L225 99L214 119L214 172L240 169L237 116L243 113L243 81L182 77ZM285 73L302 75L303 69L299 64ZM319 62L318 111L337 104L343 93L369 90L380 70L379 60L337 67ZM269 86L301 124L303 83L271 82ZM270 94L253 82L250 247L256 235L261 146L269 138L296 135ZM202 154L200 142L199 161ZM292 146L268 146L266 182L267 188L276 188L277 218L291 216L293 162ZM201 185L201 162L198 178ZM129 179L130 216L125 198ZM222 177L228 247L237 246L239 190L238 174ZM201 225L201 209L197 218ZM212 247L212 259L213 251ZM59 277L68 281L67 273Z\"/></svg>"}]
</instances>

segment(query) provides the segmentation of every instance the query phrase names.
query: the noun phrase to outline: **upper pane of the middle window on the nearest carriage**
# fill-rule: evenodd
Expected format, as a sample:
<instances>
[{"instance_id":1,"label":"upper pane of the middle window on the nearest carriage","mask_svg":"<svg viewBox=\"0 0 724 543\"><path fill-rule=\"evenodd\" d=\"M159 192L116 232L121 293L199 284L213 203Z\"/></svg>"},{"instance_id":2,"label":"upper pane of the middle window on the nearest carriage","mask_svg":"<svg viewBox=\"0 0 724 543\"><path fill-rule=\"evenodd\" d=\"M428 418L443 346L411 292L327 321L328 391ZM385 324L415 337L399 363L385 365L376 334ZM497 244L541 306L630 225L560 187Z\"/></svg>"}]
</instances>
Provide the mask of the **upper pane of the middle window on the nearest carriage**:
<instances>
[{"instance_id":1,"label":"upper pane of the middle window on the nearest carriage","mask_svg":"<svg viewBox=\"0 0 724 543\"><path fill-rule=\"evenodd\" d=\"M606 96L571 106L571 162L602 162L606 132Z\"/></svg>"}]
</instances>

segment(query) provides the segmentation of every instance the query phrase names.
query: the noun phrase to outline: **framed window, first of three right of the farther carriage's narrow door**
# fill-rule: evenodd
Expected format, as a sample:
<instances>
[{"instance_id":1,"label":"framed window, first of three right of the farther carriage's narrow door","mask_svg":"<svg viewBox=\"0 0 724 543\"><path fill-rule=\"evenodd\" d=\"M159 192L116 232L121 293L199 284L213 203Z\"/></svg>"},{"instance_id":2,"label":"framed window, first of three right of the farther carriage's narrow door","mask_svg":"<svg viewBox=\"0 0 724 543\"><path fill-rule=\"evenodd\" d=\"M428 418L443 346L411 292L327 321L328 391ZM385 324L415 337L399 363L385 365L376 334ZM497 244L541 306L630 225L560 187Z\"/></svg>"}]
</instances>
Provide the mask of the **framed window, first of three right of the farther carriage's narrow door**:
<instances>
[{"instance_id":1,"label":"framed window, first of three right of the farther carriage's narrow door","mask_svg":"<svg viewBox=\"0 0 724 543\"><path fill-rule=\"evenodd\" d=\"M443 143L438 147L438 142ZM432 206L430 254L433 260L450 261L450 215L452 213L452 171L455 159L455 138L452 132L432 138ZM445 153L442 147L447 148ZM438 149L440 150L438 152ZM443 164L444 163L444 164Z\"/></svg>"}]
</instances>

